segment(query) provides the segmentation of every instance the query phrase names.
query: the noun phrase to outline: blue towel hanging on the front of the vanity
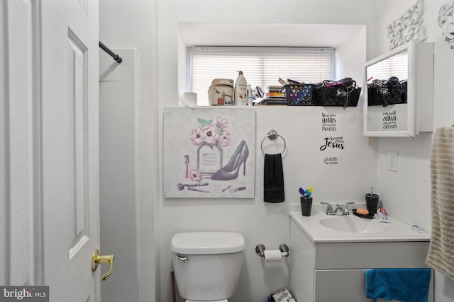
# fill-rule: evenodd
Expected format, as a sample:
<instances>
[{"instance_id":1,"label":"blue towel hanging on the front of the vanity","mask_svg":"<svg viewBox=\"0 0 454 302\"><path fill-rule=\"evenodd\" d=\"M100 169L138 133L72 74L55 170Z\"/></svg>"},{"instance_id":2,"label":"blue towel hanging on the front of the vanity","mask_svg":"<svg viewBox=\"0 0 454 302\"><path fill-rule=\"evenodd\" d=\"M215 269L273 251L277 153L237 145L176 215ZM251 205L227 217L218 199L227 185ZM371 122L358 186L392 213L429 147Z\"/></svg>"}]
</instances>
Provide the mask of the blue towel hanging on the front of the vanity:
<instances>
[{"instance_id":1,"label":"blue towel hanging on the front of the vanity","mask_svg":"<svg viewBox=\"0 0 454 302\"><path fill-rule=\"evenodd\" d=\"M366 274L366 298L427 302L431 269L372 269Z\"/></svg>"}]
</instances>

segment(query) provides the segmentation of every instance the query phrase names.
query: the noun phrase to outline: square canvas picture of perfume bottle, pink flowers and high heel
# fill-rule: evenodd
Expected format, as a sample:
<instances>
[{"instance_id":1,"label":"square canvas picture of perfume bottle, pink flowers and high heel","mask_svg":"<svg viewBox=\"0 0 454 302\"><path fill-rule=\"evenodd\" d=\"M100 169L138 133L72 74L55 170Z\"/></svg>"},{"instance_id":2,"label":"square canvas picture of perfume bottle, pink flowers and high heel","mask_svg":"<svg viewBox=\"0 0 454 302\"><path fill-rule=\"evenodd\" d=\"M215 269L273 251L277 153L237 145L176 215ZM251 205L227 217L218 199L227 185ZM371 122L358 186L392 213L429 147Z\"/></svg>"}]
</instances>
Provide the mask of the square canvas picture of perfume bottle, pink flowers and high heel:
<instances>
[{"instance_id":1,"label":"square canvas picture of perfume bottle, pink flowers and high heel","mask_svg":"<svg viewBox=\"0 0 454 302\"><path fill-rule=\"evenodd\" d=\"M254 197L254 109L165 108L163 120L164 197Z\"/></svg>"}]
</instances>

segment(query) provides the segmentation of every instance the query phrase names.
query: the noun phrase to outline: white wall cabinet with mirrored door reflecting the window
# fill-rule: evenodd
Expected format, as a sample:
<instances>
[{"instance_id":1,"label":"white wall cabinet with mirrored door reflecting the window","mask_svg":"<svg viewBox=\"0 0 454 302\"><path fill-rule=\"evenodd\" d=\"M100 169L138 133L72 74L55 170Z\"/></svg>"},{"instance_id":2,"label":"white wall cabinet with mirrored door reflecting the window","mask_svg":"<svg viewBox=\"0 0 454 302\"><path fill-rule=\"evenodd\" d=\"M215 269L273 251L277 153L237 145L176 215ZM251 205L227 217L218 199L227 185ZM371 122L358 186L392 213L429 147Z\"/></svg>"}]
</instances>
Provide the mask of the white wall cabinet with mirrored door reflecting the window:
<instances>
[{"instance_id":1,"label":"white wall cabinet with mirrored door reflecting the window","mask_svg":"<svg viewBox=\"0 0 454 302\"><path fill-rule=\"evenodd\" d=\"M433 131L433 43L408 42L364 65L364 135Z\"/></svg>"}]
</instances>

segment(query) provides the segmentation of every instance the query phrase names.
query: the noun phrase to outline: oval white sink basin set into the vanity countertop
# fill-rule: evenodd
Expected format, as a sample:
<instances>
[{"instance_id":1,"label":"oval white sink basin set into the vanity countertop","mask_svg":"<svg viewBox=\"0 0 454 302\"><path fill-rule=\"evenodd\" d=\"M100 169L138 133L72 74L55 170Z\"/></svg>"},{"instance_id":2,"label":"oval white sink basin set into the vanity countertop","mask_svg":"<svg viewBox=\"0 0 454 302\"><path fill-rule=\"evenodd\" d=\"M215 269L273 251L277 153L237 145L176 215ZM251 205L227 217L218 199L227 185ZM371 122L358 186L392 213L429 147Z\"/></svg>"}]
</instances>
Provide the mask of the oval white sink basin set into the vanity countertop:
<instances>
[{"instance_id":1,"label":"oval white sink basin set into the vanity countertop","mask_svg":"<svg viewBox=\"0 0 454 302\"><path fill-rule=\"evenodd\" d=\"M379 219L365 219L351 215L327 216L320 220L322 226L336 231L348 233L380 233L387 231L387 223L380 223Z\"/></svg>"}]
</instances>

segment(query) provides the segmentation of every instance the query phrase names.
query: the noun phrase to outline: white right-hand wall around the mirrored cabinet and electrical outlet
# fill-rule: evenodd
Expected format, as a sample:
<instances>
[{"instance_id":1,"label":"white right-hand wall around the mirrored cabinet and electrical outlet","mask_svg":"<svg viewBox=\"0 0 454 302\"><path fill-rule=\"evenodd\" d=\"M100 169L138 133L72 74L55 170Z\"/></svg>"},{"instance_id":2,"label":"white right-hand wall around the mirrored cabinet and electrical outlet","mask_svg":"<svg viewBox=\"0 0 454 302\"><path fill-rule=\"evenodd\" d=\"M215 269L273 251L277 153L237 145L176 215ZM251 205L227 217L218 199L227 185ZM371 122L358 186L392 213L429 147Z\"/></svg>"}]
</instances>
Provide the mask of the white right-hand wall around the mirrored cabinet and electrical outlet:
<instances>
[{"instance_id":1,"label":"white right-hand wall around the mirrored cabinet and electrical outlet","mask_svg":"<svg viewBox=\"0 0 454 302\"><path fill-rule=\"evenodd\" d=\"M389 40L386 25L405 13L414 0L380 1L378 6L377 49L387 52ZM434 129L454 124L452 87L454 80L454 50L443 41L438 27L438 11L446 1L424 2L423 25L428 42L435 42ZM389 214L406 222L414 222L431 231L430 154L432 133L419 134L414 139L377 139L377 193ZM398 151L398 172L387 170L387 151ZM454 301L454 281L436 272L435 300Z\"/></svg>"}]
</instances>

